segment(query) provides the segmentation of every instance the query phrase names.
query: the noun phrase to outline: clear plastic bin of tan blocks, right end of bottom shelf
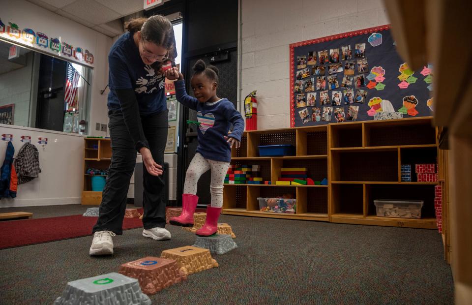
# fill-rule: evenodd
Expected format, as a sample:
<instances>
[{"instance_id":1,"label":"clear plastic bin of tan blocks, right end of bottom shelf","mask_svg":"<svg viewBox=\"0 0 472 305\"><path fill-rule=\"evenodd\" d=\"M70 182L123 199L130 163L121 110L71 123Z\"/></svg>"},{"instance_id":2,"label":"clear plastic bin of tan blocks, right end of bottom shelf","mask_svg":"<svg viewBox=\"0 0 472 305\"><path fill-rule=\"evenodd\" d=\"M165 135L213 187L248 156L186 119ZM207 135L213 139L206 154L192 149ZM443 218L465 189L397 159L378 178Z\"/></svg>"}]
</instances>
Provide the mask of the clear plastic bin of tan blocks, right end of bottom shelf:
<instances>
[{"instance_id":1,"label":"clear plastic bin of tan blocks, right end of bottom shelf","mask_svg":"<svg viewBox=\"0 0 472 305\"><path fill-rule=\"evenodd\" d=\"M421 208L423 200L374 200L377 216L400 217L400 218L421 218Z\"/></svg>"}]
</instances>

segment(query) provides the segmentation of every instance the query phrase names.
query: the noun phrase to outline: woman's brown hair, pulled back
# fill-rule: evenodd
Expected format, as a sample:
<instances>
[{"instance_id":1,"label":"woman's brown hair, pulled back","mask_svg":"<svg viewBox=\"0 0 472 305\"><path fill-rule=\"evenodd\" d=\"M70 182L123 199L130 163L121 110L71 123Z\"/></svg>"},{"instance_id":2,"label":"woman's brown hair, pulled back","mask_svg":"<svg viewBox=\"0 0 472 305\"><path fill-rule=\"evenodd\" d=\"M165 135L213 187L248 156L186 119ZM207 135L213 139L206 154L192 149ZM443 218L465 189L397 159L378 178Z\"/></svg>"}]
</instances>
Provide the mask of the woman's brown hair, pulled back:
<instances>
[{"instance_id":1,"label":"woman's brown hair, pulled back","mask_svg":"<svg viewBox=\"0 0 472 305\"><path fill-rule=\"evenodd\" d=\"M176 38L174 36L174 27L169 19L161 15L154 15L149 18L135 18L125 24L125 29L131 34L141 31L142 39L168 49L169 61L174 63L177 57ZM162 67L162 62L156 61L152 64L152 67L159 71Z\"/></svg>"}]
</instances>

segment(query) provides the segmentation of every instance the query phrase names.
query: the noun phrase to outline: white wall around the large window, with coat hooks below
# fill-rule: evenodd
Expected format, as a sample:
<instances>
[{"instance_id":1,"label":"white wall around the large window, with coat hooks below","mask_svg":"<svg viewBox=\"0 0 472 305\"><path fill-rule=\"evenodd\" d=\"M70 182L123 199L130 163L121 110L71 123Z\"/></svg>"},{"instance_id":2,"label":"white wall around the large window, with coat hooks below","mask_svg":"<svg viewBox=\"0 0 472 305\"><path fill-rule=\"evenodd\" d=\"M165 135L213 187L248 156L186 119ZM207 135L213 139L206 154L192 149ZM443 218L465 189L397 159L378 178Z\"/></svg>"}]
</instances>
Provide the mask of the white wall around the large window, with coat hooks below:
<instances>
[{"instance_id":1,"label":"white wall around the large window, with coat hooks below","mask_svg":"<svg viewBox=\"0 0 472 305\"><path fill-rule=\"evenodd\" d=\"M106 136L106 132L95 131L95 122L107 122L107 93L100 95L108 83L108 51L112 39L67 18L45 10L25 0L1 1L0 18L4 24L9 21L21 29L42 31L49 37L63 37L73 46L88 49L94 55L91 83L89 133ZM19 111L15 107L15 113ZM16 115L15 115L16 117ZM20 185L15 199L2 199L1 207L42 206L79 204L83 183L84 140L82 136L51 132L27 127L0 124L0 134L14 135L13 145L18 151L23 143L21 135L35 140L40 156L42 173L38 179ZM37 144L38 137L47 137L48 145ZM0 141L0 160L3 160L6 143Z\"/></svg>"}]
</instances>

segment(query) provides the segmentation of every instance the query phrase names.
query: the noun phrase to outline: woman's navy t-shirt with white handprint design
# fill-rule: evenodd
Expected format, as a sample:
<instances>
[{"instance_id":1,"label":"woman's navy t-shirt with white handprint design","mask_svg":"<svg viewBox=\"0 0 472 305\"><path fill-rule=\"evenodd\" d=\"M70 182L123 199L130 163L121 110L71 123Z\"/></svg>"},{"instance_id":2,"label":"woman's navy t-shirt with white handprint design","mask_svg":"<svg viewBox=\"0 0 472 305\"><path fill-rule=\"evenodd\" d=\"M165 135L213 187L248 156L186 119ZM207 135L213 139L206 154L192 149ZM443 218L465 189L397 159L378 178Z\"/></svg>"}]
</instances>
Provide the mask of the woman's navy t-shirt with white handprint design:
<instances>
[{"instance_id":1,"label":"woman's navy t-shirt with white handprint design","mask_svg":"<svg viewBox=\"0 0 472 305\"><path fill-rule=\"evenodd\" d=\"M165 76L144 64L132 33L124 33L113 44L108 54L108 65L108 109L121 109L116 89L135 91L141 115L152 115L167 109Z\"/></svg>"}]
</instances>

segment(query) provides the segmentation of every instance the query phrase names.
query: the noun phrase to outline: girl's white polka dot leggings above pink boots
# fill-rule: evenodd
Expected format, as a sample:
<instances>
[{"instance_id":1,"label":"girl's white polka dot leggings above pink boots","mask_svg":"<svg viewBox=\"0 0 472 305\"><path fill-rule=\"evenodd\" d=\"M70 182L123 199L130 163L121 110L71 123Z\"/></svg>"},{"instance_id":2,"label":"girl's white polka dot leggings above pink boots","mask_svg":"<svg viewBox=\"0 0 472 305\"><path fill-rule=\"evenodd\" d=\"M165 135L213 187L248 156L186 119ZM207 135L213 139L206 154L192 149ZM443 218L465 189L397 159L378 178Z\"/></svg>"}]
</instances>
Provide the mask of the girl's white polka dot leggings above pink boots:
<instances>
[{"instance_id":1,"label":"girl's white polka dot leggings above pink boots","mask_svg":"<svg viewBox=\"0 0 472 305\"><path fill-rule=\"evenodd\" d=\"M229 162L205 159L200 153L195 153L185 175L183 192L185 194L197 194L197 183L200 177L211 170L211 206L221 208L223 206L223 183L228 172Z\"/></svg>"}]
</instances>

